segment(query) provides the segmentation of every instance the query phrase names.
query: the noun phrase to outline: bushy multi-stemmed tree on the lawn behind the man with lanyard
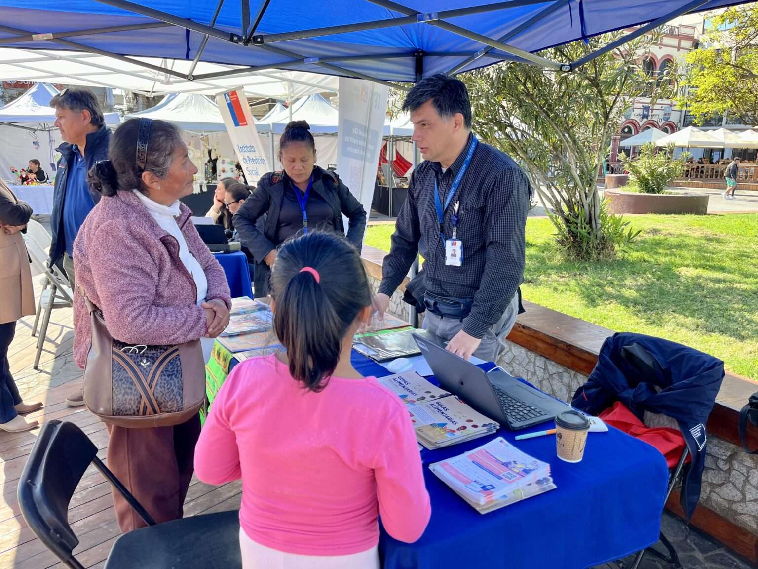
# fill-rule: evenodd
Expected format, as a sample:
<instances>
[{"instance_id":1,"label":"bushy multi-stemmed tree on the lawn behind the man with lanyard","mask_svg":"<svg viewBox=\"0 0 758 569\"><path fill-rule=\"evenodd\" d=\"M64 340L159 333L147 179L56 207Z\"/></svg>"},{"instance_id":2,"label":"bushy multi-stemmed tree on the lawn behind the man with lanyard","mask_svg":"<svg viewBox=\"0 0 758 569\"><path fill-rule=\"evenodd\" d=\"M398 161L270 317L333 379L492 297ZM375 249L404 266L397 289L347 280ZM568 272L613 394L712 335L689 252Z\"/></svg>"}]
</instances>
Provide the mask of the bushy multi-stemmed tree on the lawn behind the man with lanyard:
<instances>
[{"instance_id":1,"label":"bushy multi-stemmed tree on the lawn behind the man with lanyard","mask_svg":"<svg viewBox=\"0 0 758 569\"><path fill-rule=\"evenodd\" d=\"M570 63L619 34L541 55ZM644 68L645 55L658 38L641 36L574 71L504 63L462 75L475 132L525 167L569 258L612 257L636 236L626 222L606 212L597 193L597 172L634 99L651 96L652 105L656 97L674 93L672 69L659 77Z\"/></svg>"}]
</instances>

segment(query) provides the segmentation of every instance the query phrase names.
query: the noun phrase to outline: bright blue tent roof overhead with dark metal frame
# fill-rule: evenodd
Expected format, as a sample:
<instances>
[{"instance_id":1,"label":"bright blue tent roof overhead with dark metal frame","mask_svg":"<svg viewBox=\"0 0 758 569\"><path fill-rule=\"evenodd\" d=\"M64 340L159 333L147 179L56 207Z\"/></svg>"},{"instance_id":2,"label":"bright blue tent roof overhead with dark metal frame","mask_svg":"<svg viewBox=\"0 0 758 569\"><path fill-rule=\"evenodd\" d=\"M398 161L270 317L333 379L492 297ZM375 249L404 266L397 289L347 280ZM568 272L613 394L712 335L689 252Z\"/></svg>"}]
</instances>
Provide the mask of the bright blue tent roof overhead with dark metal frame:
<instances>
[{"instance_id":1,"label":"bright blue tent roof overhead with dark metal frame","mask_svg":"<svg viewBox=\"0 0 758 569\"><path fill-rule=\"evenodd\" d=\"M412 82L513 58L555 67L532 54L611 30L662 24L691 11L740 3L296 0L293 6L284 0L222 0L215 17L218 5L211 0L0 0L0 45L106 52L120 58L192 60L200 54L202 61L253 70L286 68ZM249 9L243 10L244 5ZM52 36L32 36L39 33Z\"/></svg>"}]
</instances>

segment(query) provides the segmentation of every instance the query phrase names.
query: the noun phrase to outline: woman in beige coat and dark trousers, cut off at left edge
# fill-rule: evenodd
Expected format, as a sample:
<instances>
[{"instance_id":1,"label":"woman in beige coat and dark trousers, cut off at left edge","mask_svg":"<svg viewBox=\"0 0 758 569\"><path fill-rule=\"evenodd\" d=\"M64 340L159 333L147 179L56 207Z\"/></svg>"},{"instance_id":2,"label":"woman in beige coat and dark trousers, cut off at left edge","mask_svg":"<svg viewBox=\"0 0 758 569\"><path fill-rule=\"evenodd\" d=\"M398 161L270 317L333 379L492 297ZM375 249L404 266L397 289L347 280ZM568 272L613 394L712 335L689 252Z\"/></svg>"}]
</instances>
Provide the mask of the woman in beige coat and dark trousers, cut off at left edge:
<instances>
[{"instance_id":1,"label":"woman in beige coat and dark trousers, cut off at left edge","mask_svg":"<svg viewBox=\"0 0 758 569\"><path fill-rule=\"evenodd\" d=\"M39 426L21 414L42 407L41 403L25 404L11 376L8 347L16 333L16 321L35 313L32 274L27 247L20 231L26 227L32 209L20 202L0 181L0 430L28 431Z\"/></svg>"}]
</instances>

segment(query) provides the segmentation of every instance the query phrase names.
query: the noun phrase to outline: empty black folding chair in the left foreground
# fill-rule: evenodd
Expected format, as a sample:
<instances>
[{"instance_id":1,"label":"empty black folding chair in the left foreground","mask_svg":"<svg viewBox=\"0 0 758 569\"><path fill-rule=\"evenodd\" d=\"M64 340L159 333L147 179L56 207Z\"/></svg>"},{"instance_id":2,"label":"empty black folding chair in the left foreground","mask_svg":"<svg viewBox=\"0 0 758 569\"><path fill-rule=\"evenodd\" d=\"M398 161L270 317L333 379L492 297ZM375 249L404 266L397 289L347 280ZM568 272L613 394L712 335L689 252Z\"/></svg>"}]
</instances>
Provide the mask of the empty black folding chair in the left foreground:
<instances>
[{"instance_id":1,"label":"empty black folding chair in the left foreground","mask_svg":"<svg viewBox=\"0 0 758 569\"><path fill-rule=\"evenodd\" d=\"M158 523L97 457L97 448L74 423L50 421L42 426L18 484L23 518L39 540L72 569L79 539L68 523L68 506L90 464L108 479L148 527L120 536L105 569L211 569L242 567L238 512L224 511Z\"/></svg>"}]
</instances>

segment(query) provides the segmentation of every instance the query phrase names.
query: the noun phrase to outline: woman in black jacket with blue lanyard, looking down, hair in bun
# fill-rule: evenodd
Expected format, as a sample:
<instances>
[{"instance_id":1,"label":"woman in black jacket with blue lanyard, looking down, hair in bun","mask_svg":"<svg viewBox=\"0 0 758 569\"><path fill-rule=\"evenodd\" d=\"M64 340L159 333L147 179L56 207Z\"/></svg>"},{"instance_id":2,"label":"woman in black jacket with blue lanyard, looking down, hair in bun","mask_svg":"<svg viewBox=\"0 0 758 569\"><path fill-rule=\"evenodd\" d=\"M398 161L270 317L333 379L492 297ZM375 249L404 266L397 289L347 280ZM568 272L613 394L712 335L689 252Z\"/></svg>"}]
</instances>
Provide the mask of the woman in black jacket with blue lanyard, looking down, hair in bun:
<instances>
[{"instance_id":1,"label":"woman in black jacket with blue lanyard, looking down, hair in bun","mask_svg":"<svg viewBox=\"0 0 758 569\"><path fill-rule=\"evenodd\" d=\"M337 174L315 165L316 146L309 128L305 121L287 124L279 142L283 171L264 174L234 215L234 228L255 257L258 298L268 295L270 267L278 248L302 231L320 229L344 235L344 214L349 220L347 240L361 250L365 209ZM265 214L265 222L256 227Z\"/></svg>"}]
</instances>

